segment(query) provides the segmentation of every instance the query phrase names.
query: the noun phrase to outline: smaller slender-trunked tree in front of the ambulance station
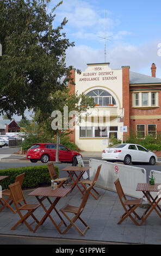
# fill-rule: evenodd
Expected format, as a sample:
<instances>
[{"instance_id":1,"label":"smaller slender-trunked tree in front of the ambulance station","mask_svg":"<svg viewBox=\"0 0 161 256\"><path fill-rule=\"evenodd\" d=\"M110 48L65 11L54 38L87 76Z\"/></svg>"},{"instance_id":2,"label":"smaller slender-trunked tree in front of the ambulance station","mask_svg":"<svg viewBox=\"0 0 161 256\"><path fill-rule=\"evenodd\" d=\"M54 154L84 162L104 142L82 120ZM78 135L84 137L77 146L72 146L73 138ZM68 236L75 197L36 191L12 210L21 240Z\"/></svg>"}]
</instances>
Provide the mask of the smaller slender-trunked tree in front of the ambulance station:
<instances>
[{"instance_id":1,"label":"smaller slender-trunked tree in front of the ambulance station","mask_svg":"<svg viewBox=\"0 0 161 256\"><path fill-rule=\"evenodd\" d=\"M49 95L48 106L50 109L48 117L44 117L44 114L39 111L36 113L36 120L44 127L44 133L57 137L55 161L59 162L60 137L62 135L69 135L76 122L79 123L83 112L95 107L95 103L92 97L86 96L83 93L79 95L77 92L70 94L70 89L66 87L64 90L57 90L57 92Z\"/></svg>"}]
</instances>

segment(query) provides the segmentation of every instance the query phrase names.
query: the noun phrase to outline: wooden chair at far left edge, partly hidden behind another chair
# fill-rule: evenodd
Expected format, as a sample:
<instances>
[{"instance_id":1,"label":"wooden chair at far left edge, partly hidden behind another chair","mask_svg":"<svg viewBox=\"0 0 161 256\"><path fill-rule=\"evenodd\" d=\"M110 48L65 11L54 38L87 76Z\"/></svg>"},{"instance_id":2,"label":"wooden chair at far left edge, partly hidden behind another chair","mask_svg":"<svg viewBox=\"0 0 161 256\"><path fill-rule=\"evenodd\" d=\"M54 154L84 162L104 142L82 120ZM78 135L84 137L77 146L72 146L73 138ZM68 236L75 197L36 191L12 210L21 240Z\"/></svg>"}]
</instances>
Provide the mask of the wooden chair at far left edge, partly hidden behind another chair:
<instances>
[{"instance_id":1,"label":"wooden chair at far left edge, partly hidden behind another chair","mask_svg":"<svg viewBox=\"0 0 161 256\"><path fill-rule=\"evenodd\" d=\"M15 182L19 182L20 186L22 186L24 174L25 173L22 173L22 174L16 176ZM3 204L2 208L0 209L0 212L7 206L11 211L14 212L14 214L16 214L16 211L10 206L11 204L13 204L13 199L11 197L10 190L3 190L2 196L8 196L8 199L5 200L3 197L1 198L1 200L4 202L4 204Z\"/></svg>"}]
</instances>

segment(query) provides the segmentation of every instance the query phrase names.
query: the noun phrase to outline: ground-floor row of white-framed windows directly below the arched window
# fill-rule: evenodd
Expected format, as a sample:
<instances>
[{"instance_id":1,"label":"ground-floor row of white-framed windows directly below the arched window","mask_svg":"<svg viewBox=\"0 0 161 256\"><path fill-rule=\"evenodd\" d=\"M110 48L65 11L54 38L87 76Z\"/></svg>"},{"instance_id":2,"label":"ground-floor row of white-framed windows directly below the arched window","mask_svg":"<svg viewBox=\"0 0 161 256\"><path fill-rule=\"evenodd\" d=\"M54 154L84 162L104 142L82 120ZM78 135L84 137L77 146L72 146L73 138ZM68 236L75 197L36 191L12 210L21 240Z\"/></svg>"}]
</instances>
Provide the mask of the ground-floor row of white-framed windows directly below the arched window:
<instances>
[{"instance_id":1,"label":"ground-floor row of white-framed windows directly below the arched window","mask_svg":"<svg viewBox=\"0 0 161 256\"><path fill-rule=\"evenodd\" d=\"M117 138L117 126L81 126L79 127L79 137L80 138L103 138L108 137L108 130L109 130L109 138L114 135Z\"/></svg>"}]
</instances>

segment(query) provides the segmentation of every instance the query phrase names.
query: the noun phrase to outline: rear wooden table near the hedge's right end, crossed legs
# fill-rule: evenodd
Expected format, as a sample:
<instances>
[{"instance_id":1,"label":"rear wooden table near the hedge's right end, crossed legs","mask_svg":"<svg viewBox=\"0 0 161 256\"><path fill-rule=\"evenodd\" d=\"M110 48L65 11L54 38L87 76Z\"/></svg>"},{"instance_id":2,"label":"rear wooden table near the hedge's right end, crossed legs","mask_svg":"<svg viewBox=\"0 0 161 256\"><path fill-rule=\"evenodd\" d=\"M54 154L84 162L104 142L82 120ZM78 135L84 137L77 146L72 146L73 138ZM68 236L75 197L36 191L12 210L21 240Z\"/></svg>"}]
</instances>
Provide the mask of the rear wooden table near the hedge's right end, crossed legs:
<instances>
[{"instance_id":1,"label":"rear wooden table near the hedge's right end, crossed legs","mask_svg":"<svg viewBox=\"0 0 161 256\"><path fill-rule=\"evenodd\" d=\"M67 166L64 169L62 169L63 171L66 171L69 174L70 178L73 180L73 184L71 186L71 191L73 190L73 188L75 188L75 186L77 186L79 191L83 194L83 191L78 186L78 182L82 178L83 174L90 168L91 167L89 167L89 166L83 166L83 167ZM74 175L76 176L76 179L73 178Z\"/></svg>"}]
</instances>

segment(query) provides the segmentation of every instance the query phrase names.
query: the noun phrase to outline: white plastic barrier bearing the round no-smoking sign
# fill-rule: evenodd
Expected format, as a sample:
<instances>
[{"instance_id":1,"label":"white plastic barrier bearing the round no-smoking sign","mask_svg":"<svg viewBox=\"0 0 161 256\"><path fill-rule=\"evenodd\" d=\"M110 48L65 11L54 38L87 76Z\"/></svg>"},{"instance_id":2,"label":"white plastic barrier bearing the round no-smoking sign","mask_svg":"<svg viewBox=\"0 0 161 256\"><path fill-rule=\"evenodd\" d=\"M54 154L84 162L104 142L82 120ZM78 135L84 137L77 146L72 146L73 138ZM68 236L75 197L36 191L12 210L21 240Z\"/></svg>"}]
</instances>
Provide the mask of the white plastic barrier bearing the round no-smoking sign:
<instances>
[{"instance_id":1,"label":"white plastic barrier bearing the round no-smoking sign","mask_svg":"<svg viewBox=\"0 0 161 256\"><path fill-rule=\"evenodd\" d=\"M119 178L126 196L134 198L143 197L143 192L136 191L136 188L138 183L146 183L146 170L144 168L90 159L90 180L94 179L97 167L100 164L102 164L102 167L96 186L116 192L114 181Z\"/></svg>"}]
</instances>

